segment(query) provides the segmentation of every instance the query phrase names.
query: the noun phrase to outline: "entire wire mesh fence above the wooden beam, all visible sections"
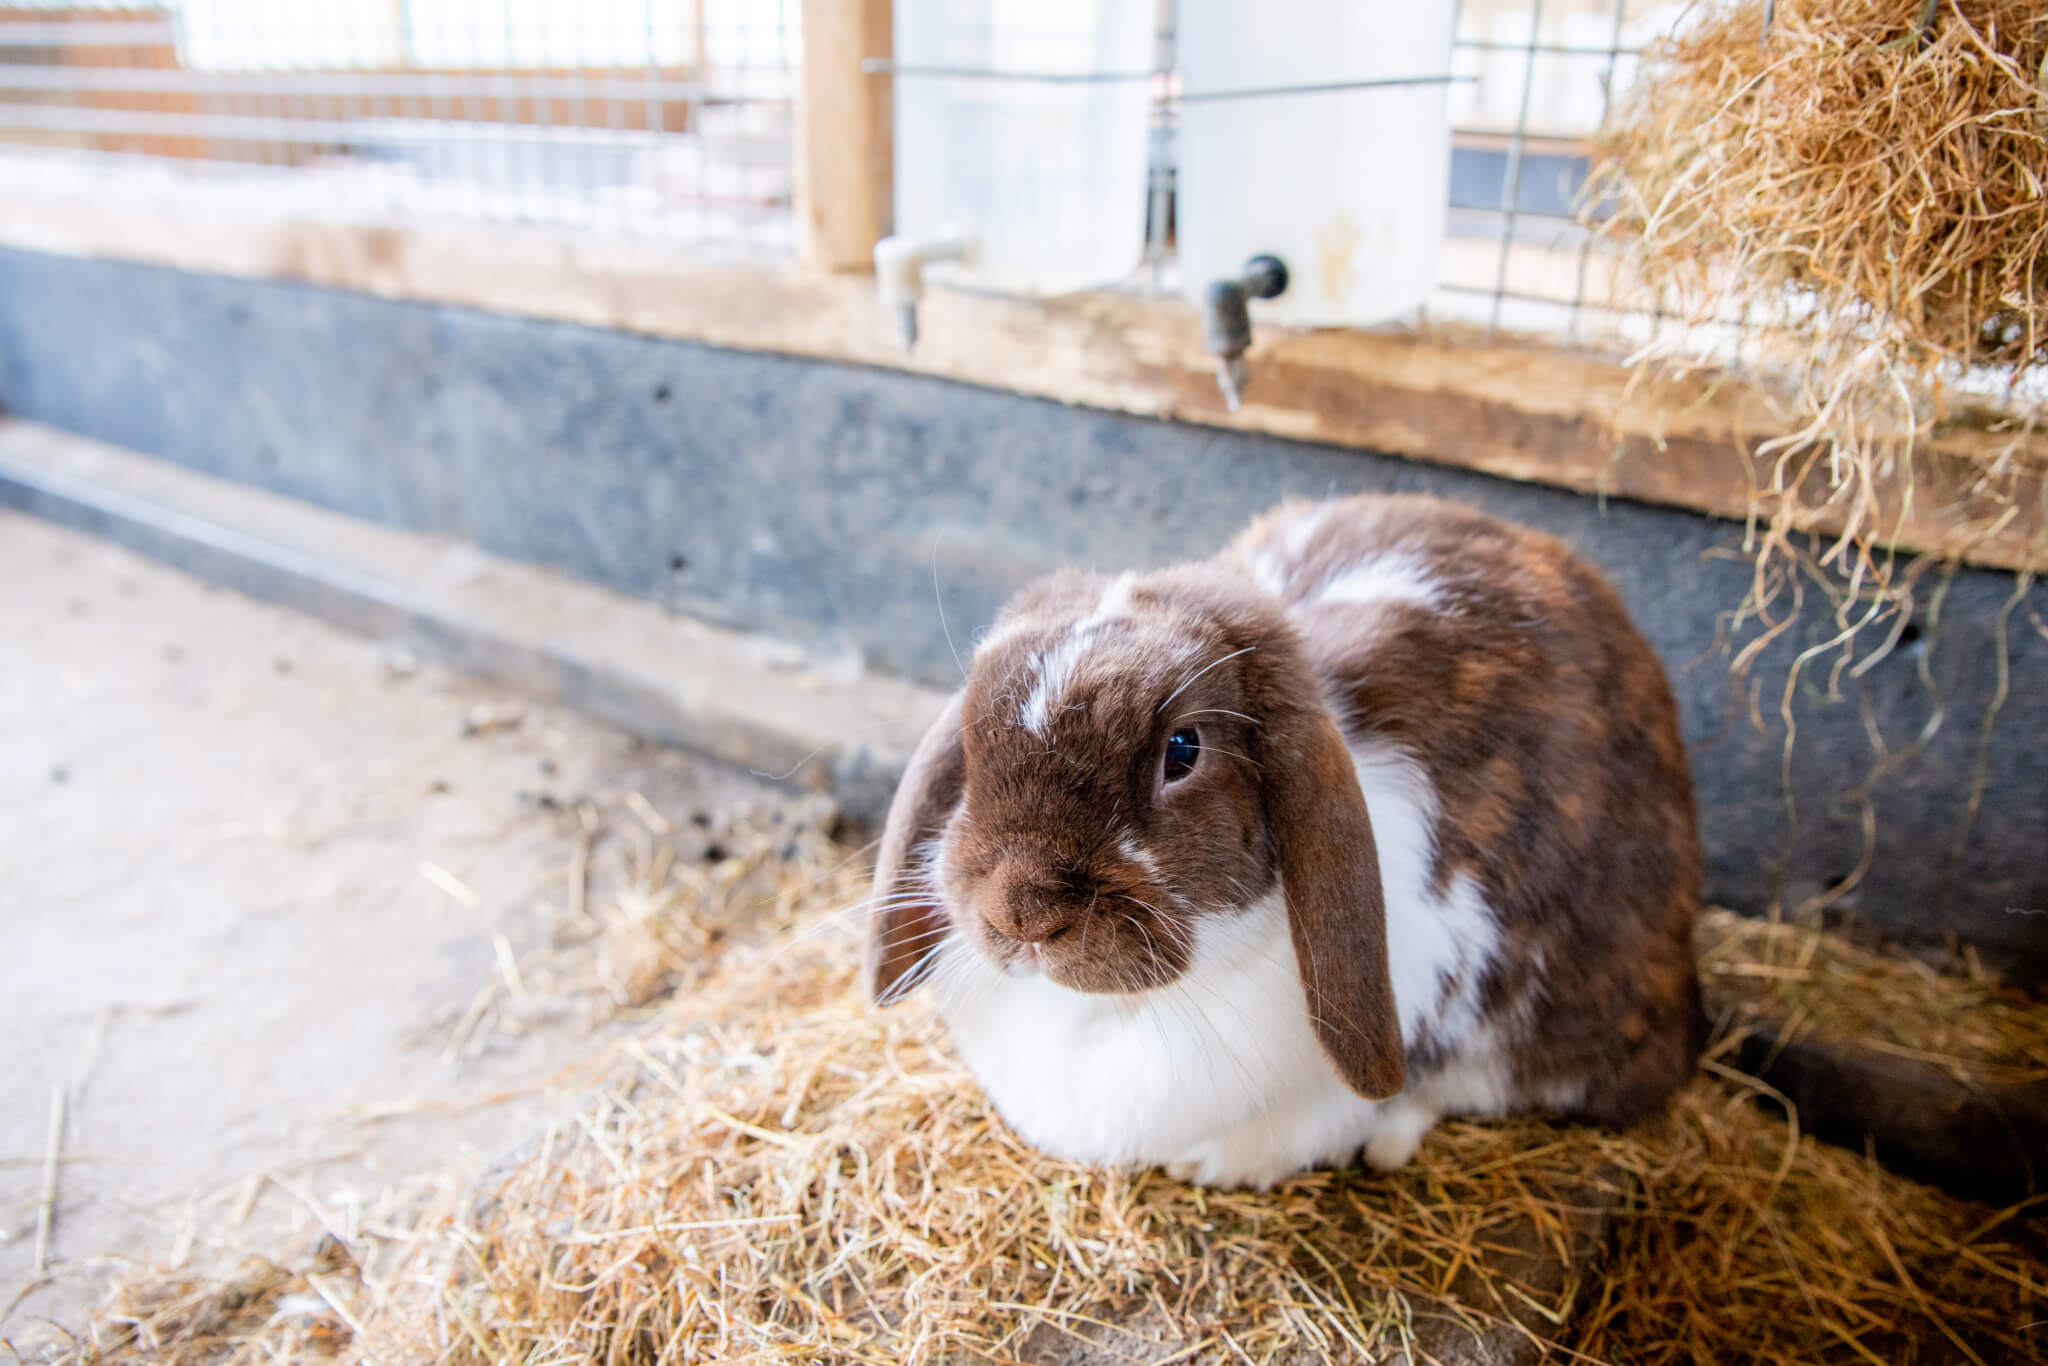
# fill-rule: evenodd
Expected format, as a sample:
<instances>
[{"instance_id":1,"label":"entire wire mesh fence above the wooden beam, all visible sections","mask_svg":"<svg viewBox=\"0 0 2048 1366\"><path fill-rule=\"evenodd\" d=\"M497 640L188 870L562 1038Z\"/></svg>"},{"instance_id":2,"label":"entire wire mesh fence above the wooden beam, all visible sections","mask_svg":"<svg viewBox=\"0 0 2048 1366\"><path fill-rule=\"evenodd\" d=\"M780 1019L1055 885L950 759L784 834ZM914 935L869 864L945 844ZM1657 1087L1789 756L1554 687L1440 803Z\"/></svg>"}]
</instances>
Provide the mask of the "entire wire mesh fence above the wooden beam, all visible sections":
<instances>
[{"instance_id":1,"label":"entire wire mesh fence above the wooden beam, all visible sections","mask_svg":"<svg viewBox=\"0 0 2048 1366\"><path fill-rule=\"evenodd\" d=\"M1174 12L1159 0L1159 291L1174 287ZM1462 0L1430 317L1575 344L1649 336L1575 207L1610 92L1677 12ZM801 61L799 0L0 2L0 176L119 162L313 213L791 252Z\"/></svg>"}]
</instances>

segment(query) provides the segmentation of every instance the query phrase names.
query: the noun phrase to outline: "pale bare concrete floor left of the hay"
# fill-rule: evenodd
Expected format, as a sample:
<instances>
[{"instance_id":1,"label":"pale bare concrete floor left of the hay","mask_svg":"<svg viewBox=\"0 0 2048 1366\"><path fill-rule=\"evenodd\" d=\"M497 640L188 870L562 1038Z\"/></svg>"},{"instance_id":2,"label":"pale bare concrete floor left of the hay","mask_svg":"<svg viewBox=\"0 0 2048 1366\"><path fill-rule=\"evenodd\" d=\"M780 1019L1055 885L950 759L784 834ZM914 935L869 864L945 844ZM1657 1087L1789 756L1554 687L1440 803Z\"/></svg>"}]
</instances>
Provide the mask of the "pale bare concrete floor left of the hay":
<instances>
[{"instance_id":1,"label":"pale bare concrete floor left of the hay","mask_svg":"<svg viewBox=\"0 0 2048 1366\"><path fill-rule=\"evenodd\" d=\"M475 733L479 707L508 700L0 512L0 1337L512 1147L614 1026L530 1012L444 1053L496 938L563 905L575 801L782 801L561 711Z\"/></svg>"}]
</instances>

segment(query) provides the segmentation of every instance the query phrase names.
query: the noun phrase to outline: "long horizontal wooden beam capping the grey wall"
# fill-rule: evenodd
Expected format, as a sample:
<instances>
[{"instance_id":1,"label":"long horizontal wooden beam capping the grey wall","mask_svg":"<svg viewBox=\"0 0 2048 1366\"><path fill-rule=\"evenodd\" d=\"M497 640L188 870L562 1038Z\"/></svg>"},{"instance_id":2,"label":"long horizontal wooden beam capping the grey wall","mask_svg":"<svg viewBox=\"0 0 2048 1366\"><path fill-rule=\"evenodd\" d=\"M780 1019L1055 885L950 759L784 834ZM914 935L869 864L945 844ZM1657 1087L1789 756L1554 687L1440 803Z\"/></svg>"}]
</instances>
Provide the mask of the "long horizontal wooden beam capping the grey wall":
<instances>
[{"instance_id":1,"label":"long horizontal wooden beam capping the grey wall","mask_svg":"<svg viewBox=\"0 0 2048 1366\"><path fill-rule=\"evenodd\" d=\"M864 276L782 262L684 256L545 229L426 221L336 221L279 213L248 190L162 176L31 176L10 184L0 244L66 256L455 303L711 346L879 365L1149 418L1270 432L1690 508L1767 516L1751 451L1774 428L1751 395L1638 383L1595 356L1458 336L1266 328L1245 408L1217 393L1200 326L1174 299L1114 293L1026 301L936 289L915 354L887 340ZM2007 569L2048 567L2048 440L2009 477L2013 510L1972 496L1974 432L1939 436L1911 481L1876 489L1907 549ZM1825 496L1825 473L1806 483ZM1804 526L1839 532L1839 514Z\"/></svg>"}]
</instances>

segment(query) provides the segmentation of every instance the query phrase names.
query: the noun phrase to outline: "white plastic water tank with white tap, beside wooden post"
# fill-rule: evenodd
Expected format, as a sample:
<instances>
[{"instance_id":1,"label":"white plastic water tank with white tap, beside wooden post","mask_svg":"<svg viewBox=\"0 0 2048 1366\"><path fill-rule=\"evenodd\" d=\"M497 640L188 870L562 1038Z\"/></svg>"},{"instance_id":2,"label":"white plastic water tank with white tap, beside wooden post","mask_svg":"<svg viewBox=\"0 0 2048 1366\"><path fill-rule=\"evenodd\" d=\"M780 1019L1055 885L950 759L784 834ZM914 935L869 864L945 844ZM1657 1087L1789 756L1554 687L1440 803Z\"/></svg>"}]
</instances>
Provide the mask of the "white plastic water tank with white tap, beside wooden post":
<instances>
[{"instance_id":1,"label":"white plastic water tank with white tap, beside wooden post","mask_svg":"<svg viewBox=\"0 0 2048 1366\"><path fill-rule=\"evenodd\" d=\"M895 233L973 240L934 279L1059 295L1139 268L1155 20L1155 0L895 0Z\"/></svg>"}]
</instances>

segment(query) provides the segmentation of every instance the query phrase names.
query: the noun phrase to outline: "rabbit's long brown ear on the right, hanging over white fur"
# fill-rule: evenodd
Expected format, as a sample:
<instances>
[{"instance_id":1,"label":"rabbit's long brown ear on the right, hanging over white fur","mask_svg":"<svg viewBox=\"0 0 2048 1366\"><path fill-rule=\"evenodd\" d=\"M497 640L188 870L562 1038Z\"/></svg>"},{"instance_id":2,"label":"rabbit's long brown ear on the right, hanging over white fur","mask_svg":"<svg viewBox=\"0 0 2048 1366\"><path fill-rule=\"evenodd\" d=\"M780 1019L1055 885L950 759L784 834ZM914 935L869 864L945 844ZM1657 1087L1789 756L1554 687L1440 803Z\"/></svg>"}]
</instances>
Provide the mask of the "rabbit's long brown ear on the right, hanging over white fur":
<instances>
[{"instance_id":1,"label":"rabbit's long brown ear on the right, hanging over white fur","mask_svg":"<svg viewBox=\"0 0 2048 1366\"><path fill-rule=\"evenodd\" d=\"M1386 971L1386 901L1372 819L1323 705L1321 680L1298 647L1247 655L1257 680L1260 786L1286 891L1315 1034L1346 1083L1366 1100L1401 1090L1401 1020Z\"/></svg>"}]
</instances>

